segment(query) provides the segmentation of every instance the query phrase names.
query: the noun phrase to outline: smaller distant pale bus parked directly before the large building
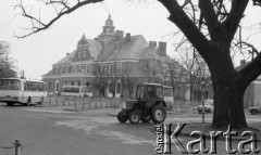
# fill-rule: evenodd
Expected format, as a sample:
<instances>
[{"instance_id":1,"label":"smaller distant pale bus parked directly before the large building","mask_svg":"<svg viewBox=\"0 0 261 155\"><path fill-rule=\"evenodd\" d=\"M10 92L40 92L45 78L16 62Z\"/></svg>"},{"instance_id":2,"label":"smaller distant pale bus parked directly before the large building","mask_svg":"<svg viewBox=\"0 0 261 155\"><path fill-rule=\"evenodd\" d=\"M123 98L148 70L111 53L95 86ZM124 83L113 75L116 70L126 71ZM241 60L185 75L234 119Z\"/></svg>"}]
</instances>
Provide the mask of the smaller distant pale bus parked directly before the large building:
<instances>
[{"instance_id":1,"label":"smaller distant pale bus parked directly before the large building","mask_svg":"<svg viewBox=\"0 0 261 155\"><path fill-rule=\"evenodd\" d=\"M92 96L92 92L86 86L64 86L62 87L61 95Z\"/></svg>"}]
</instances>

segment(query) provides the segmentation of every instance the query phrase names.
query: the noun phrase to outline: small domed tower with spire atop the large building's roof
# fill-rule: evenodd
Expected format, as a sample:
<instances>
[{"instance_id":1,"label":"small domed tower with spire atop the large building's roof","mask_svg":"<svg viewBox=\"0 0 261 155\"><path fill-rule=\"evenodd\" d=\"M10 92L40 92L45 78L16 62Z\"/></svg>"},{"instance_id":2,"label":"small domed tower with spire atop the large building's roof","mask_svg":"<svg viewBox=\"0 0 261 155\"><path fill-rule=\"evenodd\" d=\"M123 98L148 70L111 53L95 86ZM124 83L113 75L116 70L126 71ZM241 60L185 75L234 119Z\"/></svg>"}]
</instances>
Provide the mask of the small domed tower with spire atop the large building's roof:
<instances>
[{"instance_id":1,"label":"small domed tower with spire atop the large building's roof","mask_svg":"<svg viewBox=\"0 0 261 155\"><path fill-rule=\"evenodd\" d=\"M113 26L113 21L111 18L111 14L109 14L105 25L103 26L102 33L98 36L98 39L108 43L112 39L115 38L115 27Z\"/></svg>"}]
</instances>

